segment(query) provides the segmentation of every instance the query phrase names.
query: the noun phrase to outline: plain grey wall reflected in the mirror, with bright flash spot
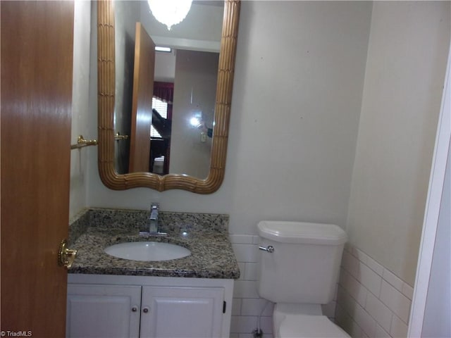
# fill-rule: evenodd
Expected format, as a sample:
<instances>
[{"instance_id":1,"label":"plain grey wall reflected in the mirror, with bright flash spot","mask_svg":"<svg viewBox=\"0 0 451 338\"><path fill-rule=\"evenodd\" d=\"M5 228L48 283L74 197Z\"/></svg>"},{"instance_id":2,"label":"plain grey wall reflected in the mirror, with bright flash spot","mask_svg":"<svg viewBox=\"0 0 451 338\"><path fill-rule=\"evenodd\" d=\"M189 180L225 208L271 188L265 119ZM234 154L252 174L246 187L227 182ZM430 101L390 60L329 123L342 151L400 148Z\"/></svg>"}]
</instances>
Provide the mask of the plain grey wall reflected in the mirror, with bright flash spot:
<instances>
[{"instance_id":1,"label":"plain grey wall reflected in the mirror, with bright flash spot","mask_svg":"<svg viewBox=\"0 0 451 338\"><path fill-rule=\"evenodd\" d=\"M183 49L176 53L169 173L203 179L210 170L211 138L202 142L202 130L190 120L202 112L204 123L213 126L219 54Z\"/></svg>"}]
</instances>

